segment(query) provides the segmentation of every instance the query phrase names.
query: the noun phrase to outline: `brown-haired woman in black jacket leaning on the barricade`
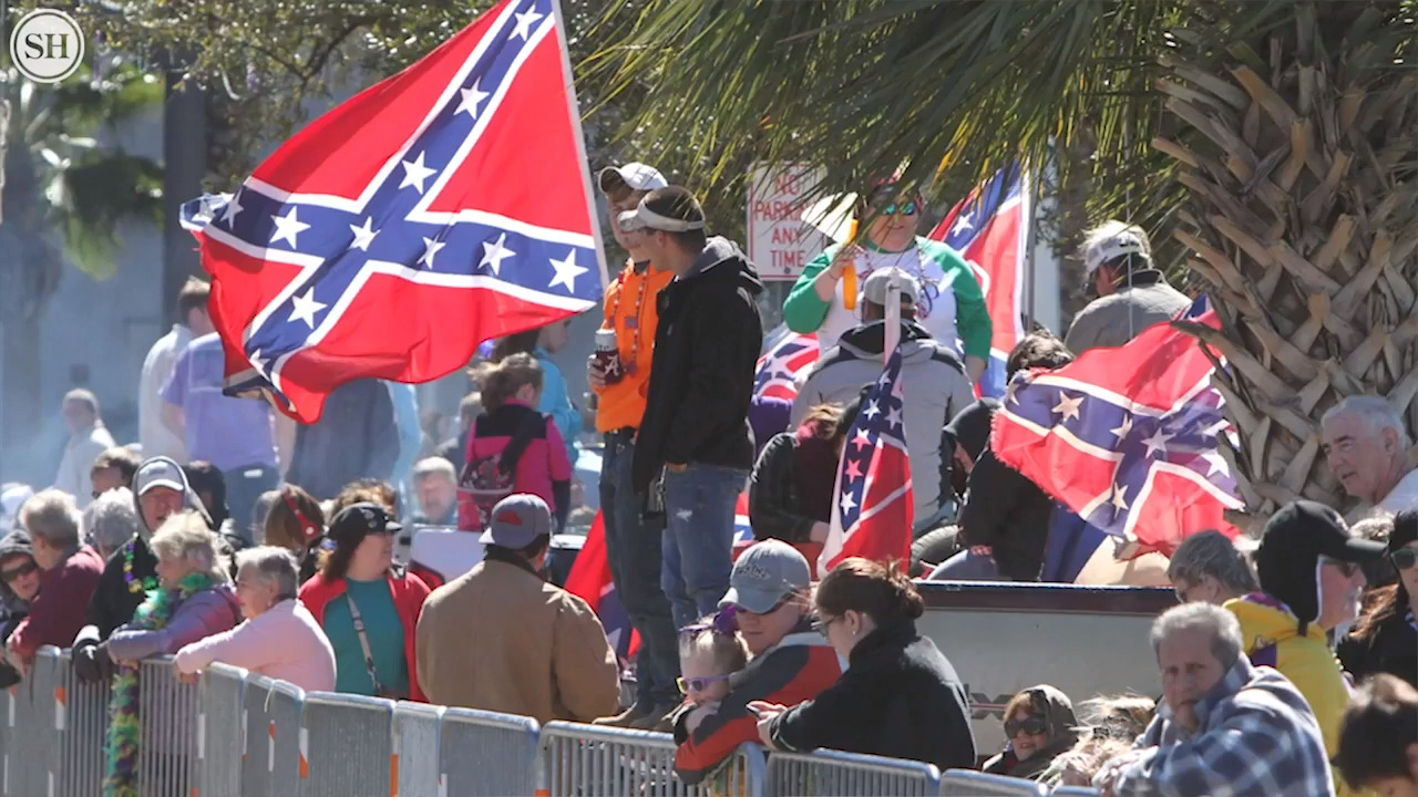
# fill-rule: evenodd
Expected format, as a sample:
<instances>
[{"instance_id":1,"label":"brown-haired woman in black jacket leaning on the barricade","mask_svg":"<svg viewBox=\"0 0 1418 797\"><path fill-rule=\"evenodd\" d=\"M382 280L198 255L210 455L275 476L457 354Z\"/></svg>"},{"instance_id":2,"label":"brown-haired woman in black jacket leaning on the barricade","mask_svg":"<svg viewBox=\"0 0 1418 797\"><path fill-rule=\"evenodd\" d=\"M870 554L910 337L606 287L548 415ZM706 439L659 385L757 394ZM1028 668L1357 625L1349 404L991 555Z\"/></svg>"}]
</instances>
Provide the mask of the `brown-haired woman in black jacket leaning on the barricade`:
<instances>
[{"instance_id":1,"label":"brown-haired woman in black jacket leaning on the barricade","mask_svg":"<svg viewBox=\"0 0 1418 797\"><path fill-rule=\"evenodd\" d=\"M966 689L936 644L916 631L926 608L898 564L845 559L817 587L817 628L848 661L815 699L749 703L774 750L817 747L973 769Z\"/></svg>"}]
</instances>

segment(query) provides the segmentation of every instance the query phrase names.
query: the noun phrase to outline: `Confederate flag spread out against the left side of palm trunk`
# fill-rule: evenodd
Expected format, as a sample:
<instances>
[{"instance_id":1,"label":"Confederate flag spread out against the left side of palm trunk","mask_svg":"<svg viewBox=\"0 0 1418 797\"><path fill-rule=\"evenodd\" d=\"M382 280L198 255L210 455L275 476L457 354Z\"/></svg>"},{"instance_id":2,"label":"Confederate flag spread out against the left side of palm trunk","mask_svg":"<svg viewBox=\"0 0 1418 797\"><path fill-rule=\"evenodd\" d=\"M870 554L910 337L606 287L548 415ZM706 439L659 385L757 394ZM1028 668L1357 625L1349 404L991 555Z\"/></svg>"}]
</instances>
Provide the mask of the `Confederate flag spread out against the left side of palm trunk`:
<instances>
[{"instance_id":1,"label":"Confederate flag spread out against the left side of palm trunk","mask_svg":"<svg viewBox=\"0 0 1418 797\"><path fill-rule=\"evenodd\" d=\"M1184 318L1218 326L1202 296ZM1218 451L1229 423L1195 338L1160 323L1119 349L1018 374L995 416L1005 464L1137 553L1171 554L1202 529L1235 536L1235 476Z\"/></svg>"}]
</instances>

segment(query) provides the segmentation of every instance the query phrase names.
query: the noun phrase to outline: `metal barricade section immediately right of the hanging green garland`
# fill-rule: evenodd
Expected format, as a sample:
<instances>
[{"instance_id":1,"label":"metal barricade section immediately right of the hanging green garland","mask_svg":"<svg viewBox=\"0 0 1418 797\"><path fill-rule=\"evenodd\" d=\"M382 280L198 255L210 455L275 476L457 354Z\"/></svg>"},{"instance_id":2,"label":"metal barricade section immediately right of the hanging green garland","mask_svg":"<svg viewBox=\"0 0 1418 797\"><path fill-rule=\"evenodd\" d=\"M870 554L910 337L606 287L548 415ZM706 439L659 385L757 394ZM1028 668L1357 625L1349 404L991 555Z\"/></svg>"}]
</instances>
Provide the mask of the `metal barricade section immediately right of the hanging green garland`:
<instances>
[{"instance_id":1,"label":"metal barricade section immediately right of the hanging green garland","mask_svg":"<svg viewBox=\"0 0 1418 797\"><path fill-rule=\"evenodd\" d=\"M138 682L138 788L186 797L197 786L197 684L177 679L170 655L139 662Z\"/></svg>"}]
</instances>

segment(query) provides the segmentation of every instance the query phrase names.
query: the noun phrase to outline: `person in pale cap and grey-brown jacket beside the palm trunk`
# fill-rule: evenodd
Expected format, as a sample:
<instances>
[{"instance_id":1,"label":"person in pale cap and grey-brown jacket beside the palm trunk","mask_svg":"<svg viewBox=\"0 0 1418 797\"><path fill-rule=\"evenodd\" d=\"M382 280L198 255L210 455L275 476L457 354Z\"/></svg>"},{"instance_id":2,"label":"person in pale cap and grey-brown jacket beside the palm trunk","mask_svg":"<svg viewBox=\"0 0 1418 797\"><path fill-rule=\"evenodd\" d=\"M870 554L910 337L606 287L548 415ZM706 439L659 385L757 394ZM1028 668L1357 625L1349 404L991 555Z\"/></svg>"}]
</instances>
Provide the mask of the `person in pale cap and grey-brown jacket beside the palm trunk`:
<instances>
[{"instance_id":1,"label":"person in pale cap and grey-brown jacket beside the palm trunk","mask_svg":"<svg viewBox=\"0 0 1418 797\"><path fill-rule=\"evenodd\" d=\"M1098 299L1073 316L1064 339L1075 355L1122 346L1191 306L1153 264L1151 243L1141 227L1107 221L1090 230L1083 265L1089 292Z\"/></svg>"}]
</instances>

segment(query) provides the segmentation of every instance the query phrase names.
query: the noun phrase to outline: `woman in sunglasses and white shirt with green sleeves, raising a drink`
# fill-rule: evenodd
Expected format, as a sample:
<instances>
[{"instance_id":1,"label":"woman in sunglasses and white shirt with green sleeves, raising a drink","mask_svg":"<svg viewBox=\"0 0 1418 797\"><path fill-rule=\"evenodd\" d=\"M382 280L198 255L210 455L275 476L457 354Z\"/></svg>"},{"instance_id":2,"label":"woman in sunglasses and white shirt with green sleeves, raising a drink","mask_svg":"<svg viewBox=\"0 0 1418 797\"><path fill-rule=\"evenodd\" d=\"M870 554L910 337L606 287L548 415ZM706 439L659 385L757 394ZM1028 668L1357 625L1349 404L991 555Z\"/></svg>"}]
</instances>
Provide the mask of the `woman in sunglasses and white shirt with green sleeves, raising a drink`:
<instances>
[{"instance_id":1,"label":"woman in sunglasses and white shirt with green sleeves, raising a drink","mask_svg":"<svg viewBox=\"0 0 1418 797\"><path fill-rule=\"evenodd\" d=\"M946 346L961 342L966 373L978 381L990 360L993 326L980 282L960 252L916 235L923 197L895 179L878 182L855 210L859 243L834 244L807 264L783 303L793 332L815 332L822 350L861 323L861 289L881 268L899 268L922 286L916 321Z\"/></svg>"}]
</instances>

